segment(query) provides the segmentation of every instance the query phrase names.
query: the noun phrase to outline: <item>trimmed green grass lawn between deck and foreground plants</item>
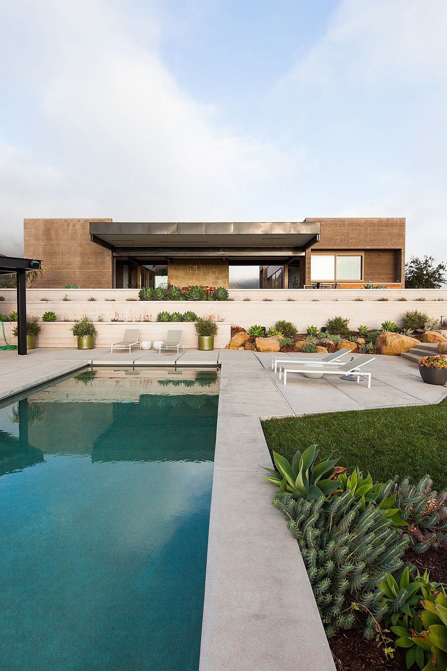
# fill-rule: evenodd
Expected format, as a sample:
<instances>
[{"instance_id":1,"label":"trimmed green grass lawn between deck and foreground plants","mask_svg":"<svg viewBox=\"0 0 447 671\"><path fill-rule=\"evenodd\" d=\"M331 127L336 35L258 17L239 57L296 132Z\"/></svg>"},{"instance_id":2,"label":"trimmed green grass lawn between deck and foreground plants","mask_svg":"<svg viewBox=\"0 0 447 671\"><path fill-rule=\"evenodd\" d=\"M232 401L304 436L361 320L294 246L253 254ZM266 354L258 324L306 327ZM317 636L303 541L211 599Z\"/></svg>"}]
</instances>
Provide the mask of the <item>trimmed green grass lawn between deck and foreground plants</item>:
<instances>
[{"instance_id":1,"label":"trimmed green grass lawn between deck and foreground plants","mask_svg":"<svg viewBox=\"0 0 447 671\"><path fill-rule=\"evenodd\" d=\"M376 482L395 475L416 482L428 473L438 491L447 487L447 399L437 405L267 419L262 427L270 452L289 461L296 450L318 443L322 456L332 452L340 466L359 466Z\"/></svg>"}]
</instances>

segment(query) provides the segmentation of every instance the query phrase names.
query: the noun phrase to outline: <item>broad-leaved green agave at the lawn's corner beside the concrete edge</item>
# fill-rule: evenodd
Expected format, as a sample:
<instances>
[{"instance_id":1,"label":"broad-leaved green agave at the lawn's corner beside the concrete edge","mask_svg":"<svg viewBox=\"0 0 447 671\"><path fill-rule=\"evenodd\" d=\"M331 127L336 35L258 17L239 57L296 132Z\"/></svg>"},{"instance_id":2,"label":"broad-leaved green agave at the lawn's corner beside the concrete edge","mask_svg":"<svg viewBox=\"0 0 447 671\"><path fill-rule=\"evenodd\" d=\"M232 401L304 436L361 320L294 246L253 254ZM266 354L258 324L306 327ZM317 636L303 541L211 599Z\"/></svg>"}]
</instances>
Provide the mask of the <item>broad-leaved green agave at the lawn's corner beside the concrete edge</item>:
<instances>
[{"instance_id":1,"label":"broad-leaved green agave at the lawn's corner beside the concrete edge","mask_svg":"<svg viewBox=\"0 0 447 671\"><path fill-rule=\"evenodd\" d=\"M292 464L281 454L273 452L278 472L264 466L270 475L263 475L263 478L277 484L279 491L290 492L294 499L330 497L340 486L336 477L345 469L336 466L338 459L322 460L317 448L317 445L310 445L303 454L297 450Z\"/></svg>"}]
</instances>

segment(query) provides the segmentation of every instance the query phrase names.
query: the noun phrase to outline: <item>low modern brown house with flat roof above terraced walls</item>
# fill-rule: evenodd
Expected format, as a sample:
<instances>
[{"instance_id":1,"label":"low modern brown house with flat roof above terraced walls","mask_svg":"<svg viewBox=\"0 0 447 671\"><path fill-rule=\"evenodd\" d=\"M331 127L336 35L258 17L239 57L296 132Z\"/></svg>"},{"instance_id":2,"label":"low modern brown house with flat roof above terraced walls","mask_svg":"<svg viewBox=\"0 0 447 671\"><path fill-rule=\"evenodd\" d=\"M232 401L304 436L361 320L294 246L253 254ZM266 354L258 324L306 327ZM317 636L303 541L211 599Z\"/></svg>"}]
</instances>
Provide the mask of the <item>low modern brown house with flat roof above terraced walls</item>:
<instances>
[{"instance_id":1,"label":"low modern brown house with flat roof above terraced walls","mask_svg":"<svg viewBox=\"0 0 447 671\"><path fill-rule=\"evenodd\" d=\"M405 219L132 223L25 219L36 287L231 289L404 286Z\"/></svg>"}]
</instances>

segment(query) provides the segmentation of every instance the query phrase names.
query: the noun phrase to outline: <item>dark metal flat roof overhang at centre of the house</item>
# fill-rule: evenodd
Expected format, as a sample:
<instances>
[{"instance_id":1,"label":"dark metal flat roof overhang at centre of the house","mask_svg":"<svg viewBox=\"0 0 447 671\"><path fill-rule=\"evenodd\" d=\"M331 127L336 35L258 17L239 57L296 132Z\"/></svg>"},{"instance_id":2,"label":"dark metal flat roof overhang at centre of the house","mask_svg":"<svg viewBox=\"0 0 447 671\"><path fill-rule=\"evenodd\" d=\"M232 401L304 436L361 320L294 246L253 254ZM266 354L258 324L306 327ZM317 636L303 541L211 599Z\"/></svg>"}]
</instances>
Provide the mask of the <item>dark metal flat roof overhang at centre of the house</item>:
<instances>
[{"instance_id":1,"label":"dark metal flat roof overhang at centre of the house","mask_svg":"<svg viewBox=\"0 0 447 671\"><path fill-rule=\"evenodd\" d=\"M90 222L90 240L113 256L287 260L302 254L319 236L316 221Z\"/></svg>"}]
</instances>

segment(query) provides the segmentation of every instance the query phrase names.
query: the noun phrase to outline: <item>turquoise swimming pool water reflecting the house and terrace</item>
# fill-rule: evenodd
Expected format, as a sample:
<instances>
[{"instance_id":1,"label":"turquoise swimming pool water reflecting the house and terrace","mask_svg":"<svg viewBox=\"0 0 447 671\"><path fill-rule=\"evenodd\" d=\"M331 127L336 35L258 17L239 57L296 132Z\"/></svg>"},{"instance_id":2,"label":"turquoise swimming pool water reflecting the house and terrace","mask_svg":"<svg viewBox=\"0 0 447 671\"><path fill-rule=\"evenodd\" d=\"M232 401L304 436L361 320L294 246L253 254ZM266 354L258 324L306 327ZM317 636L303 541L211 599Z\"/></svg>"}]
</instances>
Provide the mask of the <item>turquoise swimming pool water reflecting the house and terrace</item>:
<instances>
[{"instance_id":1,"label":"turquoise swimming pool water reflecting the house and terrace","mask_svg":"<svg viewBox=\"0 0 447 671\"><path fill-rule=\"evenodd\" d=\"M0 409L0 668L198 668L213 371L88 371Z\"/></svg>"}]
</instances>

